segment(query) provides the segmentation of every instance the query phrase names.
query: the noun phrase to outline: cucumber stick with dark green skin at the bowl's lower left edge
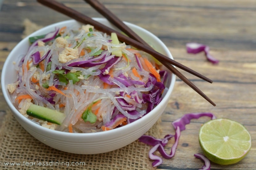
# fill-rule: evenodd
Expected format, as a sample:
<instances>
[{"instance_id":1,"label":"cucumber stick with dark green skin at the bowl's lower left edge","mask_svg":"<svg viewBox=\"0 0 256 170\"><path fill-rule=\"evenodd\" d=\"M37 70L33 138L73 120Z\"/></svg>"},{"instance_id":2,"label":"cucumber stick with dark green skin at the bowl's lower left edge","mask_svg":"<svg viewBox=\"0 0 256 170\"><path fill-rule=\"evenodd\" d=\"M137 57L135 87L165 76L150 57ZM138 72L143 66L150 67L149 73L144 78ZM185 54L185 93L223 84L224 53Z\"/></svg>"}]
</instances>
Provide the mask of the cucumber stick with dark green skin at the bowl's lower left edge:
<instances>
[{"instance_id":1,"label":"cucumber stick with dark green skin at the bowl's lower left edge","mask_svg":"<svg viewBox=\"0 0 256 170\"><path fill-rule=\"evenodd\" d=\"M27 109L27 115L38 119L61 125L66 115L43 106L31 104Z\"/></svg>"}]
</instances>

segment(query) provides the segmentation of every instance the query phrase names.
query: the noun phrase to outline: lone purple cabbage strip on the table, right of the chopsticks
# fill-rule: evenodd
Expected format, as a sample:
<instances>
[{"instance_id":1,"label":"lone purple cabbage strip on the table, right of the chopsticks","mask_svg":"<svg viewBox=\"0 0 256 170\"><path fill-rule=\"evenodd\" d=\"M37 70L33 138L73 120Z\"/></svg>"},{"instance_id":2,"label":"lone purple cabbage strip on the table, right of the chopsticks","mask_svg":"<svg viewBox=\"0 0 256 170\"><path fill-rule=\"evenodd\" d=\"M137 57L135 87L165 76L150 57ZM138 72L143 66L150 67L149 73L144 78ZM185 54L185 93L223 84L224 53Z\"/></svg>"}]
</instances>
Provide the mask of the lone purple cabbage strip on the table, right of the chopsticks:
<instances>
[{"instance_id":1,"label":"lone purple cabbage strip on the table, right of the chopsticks","mask_svg":"<svg viewBox=\"0 0 256 170\"><path fill-rule=\"evenodd\" d=\"M186 48L187 48L187 53L197 54L204 51L208 61L212 62L213 64L219 63L219 60L212 57L212 55L209 53L210 48L207 45L191 42L186 44Z\"/></svg>"}]
</instances>

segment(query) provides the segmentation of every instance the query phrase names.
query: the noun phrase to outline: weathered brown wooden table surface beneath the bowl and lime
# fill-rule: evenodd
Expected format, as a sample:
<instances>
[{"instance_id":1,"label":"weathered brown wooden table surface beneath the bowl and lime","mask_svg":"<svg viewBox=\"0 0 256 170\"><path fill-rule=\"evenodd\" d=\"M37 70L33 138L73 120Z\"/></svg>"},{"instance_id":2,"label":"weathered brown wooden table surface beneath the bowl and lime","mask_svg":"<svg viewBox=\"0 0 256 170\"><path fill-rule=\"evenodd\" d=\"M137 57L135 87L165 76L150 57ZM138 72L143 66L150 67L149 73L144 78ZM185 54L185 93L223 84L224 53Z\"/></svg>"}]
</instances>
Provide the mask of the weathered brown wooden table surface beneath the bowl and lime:
<instances>
[{"instance_id":1,"label":"weathered brown wooden table surface beneath the bowl and lime","mask_svg":"<svg viewBox=\"0 0 256 170\"><path fill-rule=\"evenodd\" d=\"M82 0L61 0L90 17L102 17ZM256 0L100 0L120 19L137 24L157 35L174 59L213 80L207 83L184 71L199 89L210 97L212 106L177 78L169 105L162 115L162 135L174 133L171 122L185 113L211 112L245 125L252 136L252 148L239 163L212 169L255 169L256 167ZM1 1L0 1L1 3ZM4 0L0 8L0 69L22 39L23 21L46 26L70 19L34 0ZM187 54L185 44L199 42L210 46L210 53L220 60L208 62L204 54ZM0 93L0 125L7 105ZM193 154L201 152L199 127L208 118L193 120L183 131L174 158L158 169L199 169L202 161ZM170 151L171 144L167 145ZM169 150L168 150L169 149Z\"/></svg>"}]
</instances>

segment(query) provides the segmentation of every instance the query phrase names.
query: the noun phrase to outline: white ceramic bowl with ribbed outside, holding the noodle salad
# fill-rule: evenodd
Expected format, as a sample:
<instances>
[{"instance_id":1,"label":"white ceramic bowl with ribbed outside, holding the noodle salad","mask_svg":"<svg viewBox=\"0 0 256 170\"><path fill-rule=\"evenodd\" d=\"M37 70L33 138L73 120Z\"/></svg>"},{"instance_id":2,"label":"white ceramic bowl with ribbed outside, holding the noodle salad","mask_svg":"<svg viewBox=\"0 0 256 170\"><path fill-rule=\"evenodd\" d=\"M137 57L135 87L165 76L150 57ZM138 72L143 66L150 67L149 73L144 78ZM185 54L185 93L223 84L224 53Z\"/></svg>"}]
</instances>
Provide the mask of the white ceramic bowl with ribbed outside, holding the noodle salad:
<instances>
[{"instance_id":1,"label":"white ceramic bowl with ribbed outside, holding the noodle salad","mask_svg":"<svg viewBox=\"0 0 256 170\"><path fill-rule=\"evenodd\" d=\"M98 22L103 23L106 26L115 29L115 27L104 18L94 19ZM50 26L46 26L34 32L30 36L46 34L50 31L53 31L56 26L62 27L77 24L79 23L75 20L58 22ZM142 38L144 38L146 42L152 44L157 49L157 51L172 58L172 55L166 45L164 45L164 43L155 35L134 24L128 22L126 22L126 24ZM166 86L169 88L169 90L166 96L159 103L159 105L157 105L150 113L148 113L141 119L136 120L123 127L95 133L68 133L50 130L48 128L37 125L31 120L25 118L13 106L7 90L7 85L15 82L15 77L17 74L14 71L13 61L15 61L17 56L19 56L20 54L25 54L27 52L27 49L29 47L28 37L24 38L21 42L19 42L18 45L15 46L15 48L10 52L4 63L1 78L2 92L16 120L23 126L24 129L27 130L27 132L29 132L32 136L34 136L36 139L40 140L44 144L64 152L76 154L97 154L113 151L115 149L124 147L141 137L145 132L149 130L149 128L154 125L154 123L159 119L164 109L166 108L175 83L174 74L170 74L171 76L169 77Z\"/></svg>"}]
</instances>

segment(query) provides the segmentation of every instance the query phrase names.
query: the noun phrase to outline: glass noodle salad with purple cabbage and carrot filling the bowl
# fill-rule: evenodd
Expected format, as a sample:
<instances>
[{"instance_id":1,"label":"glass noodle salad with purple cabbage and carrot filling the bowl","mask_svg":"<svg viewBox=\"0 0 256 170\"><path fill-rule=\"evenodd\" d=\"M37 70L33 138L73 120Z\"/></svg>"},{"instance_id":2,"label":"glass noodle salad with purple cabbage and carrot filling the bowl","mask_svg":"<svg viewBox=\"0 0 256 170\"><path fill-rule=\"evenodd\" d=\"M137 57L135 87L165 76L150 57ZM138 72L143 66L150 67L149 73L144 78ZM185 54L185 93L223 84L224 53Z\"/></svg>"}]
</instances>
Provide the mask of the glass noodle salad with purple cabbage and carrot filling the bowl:
<instances>
[{"instance_id":1,"label":"glass noodle salad with purple cabbage and carrot filling the bowl","mask_svg":"<svg viewBox=\"0 0 256 170\"><path fill-rule=\"evenodd\" d=\"M164 97L168 72L149 54L91 25L30 37L8 85L19 112L46 128L99 132L127 125Z\"/></svg>"}]
</instances>

